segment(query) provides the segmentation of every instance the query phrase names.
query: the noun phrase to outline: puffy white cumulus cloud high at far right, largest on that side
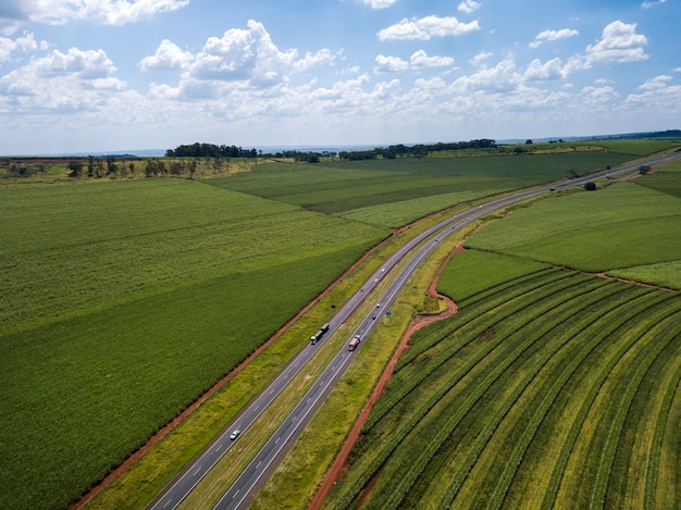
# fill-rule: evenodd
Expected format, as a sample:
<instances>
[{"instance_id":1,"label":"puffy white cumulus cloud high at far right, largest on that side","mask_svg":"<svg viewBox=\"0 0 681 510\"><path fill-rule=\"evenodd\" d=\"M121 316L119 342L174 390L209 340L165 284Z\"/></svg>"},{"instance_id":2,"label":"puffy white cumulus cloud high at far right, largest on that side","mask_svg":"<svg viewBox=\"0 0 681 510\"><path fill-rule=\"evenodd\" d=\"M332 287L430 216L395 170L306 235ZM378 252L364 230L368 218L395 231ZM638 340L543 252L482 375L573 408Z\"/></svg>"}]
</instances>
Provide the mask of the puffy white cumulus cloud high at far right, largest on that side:
<instances>
[{"instance_id":1,"label":"puffy white cumulus cloud high at far right, largest on that side","mask_svg":"<svg viewBox=\"0 0 681 510\"><path fill-rule=\"evenodd\" d=\"M600 40L586 47L584 64L590 67L597 63L646 60L648 55L643 50L645 45L647 39L644 35L636 34L635 23L616 21L603 29Z\"/></svg>"}]
</instances>

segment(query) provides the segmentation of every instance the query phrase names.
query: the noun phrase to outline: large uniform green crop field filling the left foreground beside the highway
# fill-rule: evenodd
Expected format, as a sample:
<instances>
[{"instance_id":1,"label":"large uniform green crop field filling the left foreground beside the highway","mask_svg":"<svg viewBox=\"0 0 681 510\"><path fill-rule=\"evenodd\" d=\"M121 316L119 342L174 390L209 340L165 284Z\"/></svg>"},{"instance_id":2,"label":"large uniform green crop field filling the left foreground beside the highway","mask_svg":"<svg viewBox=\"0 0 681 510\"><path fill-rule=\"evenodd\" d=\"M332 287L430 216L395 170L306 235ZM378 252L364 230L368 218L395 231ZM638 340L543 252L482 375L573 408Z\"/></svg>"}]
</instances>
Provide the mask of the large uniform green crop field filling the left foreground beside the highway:
<instances>
[{"instance_id":1,"label":"large uniform green crop field filling the left foreground beside the highway","mask_svg":"<svg viewBox=\"0 0 681 510\"><path fill-rule=\"evenodd\" d=\"M387 235L189 181L0 203L1 508L67 506Z\"/></svg>"}]
</instances>

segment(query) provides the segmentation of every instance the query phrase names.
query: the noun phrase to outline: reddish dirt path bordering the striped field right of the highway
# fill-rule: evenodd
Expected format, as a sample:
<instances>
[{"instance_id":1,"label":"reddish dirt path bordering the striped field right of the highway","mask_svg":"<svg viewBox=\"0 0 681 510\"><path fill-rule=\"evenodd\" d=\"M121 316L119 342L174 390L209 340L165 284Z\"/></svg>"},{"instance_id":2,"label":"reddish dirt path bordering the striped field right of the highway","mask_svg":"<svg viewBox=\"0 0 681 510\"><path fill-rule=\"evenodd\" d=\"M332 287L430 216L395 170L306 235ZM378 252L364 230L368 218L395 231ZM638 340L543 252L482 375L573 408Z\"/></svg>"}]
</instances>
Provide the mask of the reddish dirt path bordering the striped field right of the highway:
<instances>
[{"instance_id":1,"label":"reddish dirt path bordering the striped field right of the highway","mask_svg":"<svg viewBox=\"0 0 681 510\"><path fill-rule=\"evenodd\" d=\"M449 259L451 259L451 257L455 253L462 251L462 250L463 250L463 246L459 245L449 253L447 259L441 264L439 269L437 270L437 273L435 274L435 277L431 282L431 285L429 286L429 289L428 289L429 296L443 298L447 303L447 309L444 312L438 313L437 315L419 315L419 316L416 316L413 321L411 321L411 324L409 325L409 327L407 328L407 332L405 333L401 340L399 341L397 349L395 349L395 352L393 353L391 361L388 361L387 365L385 366L385 370L383 371L383 374L381 374L381 378L379 380L379 383L376 384L371 396L369 397L369 400L367 400L367 403L364 405L361 412L359 413L359 416L357 418L357 421L355 422L352 430L350 431L348 437L345 439L345 443L340 447L340 451L338 451L338 455L336 456L335 460L329 468L329 471L324 475L324 480L322 481L317 493L314 494L314 497L312 498L312 501L310 502L308 510L319 510L321 508L322 502L329 495L329 492L331 490L331 488L334 486L334 484L338 480L340 480L340 476L343 476L345 471L349 468L348 457L350 455L350 451L352 450L352 447L355 446L355 443L357 443L357 440L359 439L359 433L362 430L364 422L369 418L369 413L371 412L371 409L373 408L374 403L379 400L379 398L381 398L385 384L389 381L391 376L393 375L393 369L395 364L397 363L397 360L399 359L400 354L407 348L407 343L409 341L411 336L421 327L428 324L431 324L433 322L436 322L436 321L448 319L457 312L456 303L448 297L438 295L435 287L437 286L437 281L439 279L439 275L442 274L443 270L447 265L447 262L449 262Z\"/></svg>"}]
</instances>

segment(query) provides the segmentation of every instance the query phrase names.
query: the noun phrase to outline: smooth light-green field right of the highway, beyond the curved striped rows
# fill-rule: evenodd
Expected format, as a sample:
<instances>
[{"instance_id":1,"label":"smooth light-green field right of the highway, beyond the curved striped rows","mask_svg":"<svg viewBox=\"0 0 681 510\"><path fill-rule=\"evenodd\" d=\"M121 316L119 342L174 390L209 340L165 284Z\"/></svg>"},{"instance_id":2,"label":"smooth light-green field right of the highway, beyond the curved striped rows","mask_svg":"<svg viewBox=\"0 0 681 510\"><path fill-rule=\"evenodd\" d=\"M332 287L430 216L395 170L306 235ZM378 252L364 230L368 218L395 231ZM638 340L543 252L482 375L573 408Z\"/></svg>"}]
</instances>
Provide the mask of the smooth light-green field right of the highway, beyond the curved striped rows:
<instances>
[{"instance_id":1,"label":"smooth light-green field right of the highway, beyond the curved striped rows","mask_svg":"<svg viewBox=\"0 0 681 510\"><path fill-rule=\"evenodd\" d=\"M468 247L608 271L678 260L681 200L631 184L571 194L516 210L467 242Z\"/></svg>"}]
</instances>

